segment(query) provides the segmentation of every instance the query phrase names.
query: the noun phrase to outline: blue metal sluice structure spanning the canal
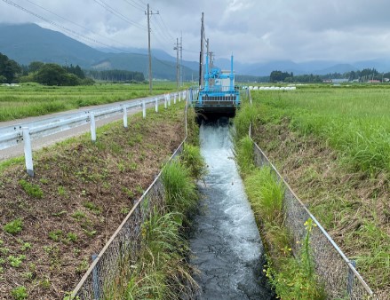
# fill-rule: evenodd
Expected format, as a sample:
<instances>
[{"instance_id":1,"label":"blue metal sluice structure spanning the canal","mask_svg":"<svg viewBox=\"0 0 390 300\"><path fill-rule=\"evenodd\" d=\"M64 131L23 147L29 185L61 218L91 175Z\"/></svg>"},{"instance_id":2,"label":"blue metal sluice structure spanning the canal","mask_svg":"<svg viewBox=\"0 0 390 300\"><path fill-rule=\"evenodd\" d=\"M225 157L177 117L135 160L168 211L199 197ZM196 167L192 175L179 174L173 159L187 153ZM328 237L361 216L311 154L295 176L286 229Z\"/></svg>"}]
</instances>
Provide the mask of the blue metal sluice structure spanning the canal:
<instances>
[{"instance_id":1,"label":"blue metal sluice structure spanning the canal","mask_svg":"<svg viewBox=\"0 0 390 300\"><path fill-rule=\"evenodd\" d=\"M209 55L206 56L204 86L200 88L193 105L195 111L200 113L235 114L236 107L240 106L240 92L235 87L233 55L229 73L219 67L212 67L210 70Z\"/></svg>"}]
</instances>

